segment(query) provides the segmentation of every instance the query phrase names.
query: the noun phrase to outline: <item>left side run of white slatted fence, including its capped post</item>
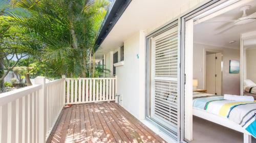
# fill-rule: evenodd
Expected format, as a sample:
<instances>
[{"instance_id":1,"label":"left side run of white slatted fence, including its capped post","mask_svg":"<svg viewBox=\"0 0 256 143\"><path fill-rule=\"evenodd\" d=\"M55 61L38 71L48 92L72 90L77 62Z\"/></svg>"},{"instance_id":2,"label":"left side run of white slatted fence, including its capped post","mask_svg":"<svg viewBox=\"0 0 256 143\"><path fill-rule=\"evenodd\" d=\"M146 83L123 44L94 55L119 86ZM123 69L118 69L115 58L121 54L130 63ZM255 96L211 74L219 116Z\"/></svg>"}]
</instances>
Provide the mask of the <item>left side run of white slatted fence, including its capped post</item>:
<instances>
[{"instance_id":1,"label":"left side run of white slatted fence, including its capped post","mask_svg":"<svg viewBox=\"0 0 256 143\"><path fill-rule=\"evenodd\" d=\"M65 79L0 94L0 142L45 142L65 105Z\"/></svg>"}]
</instances>

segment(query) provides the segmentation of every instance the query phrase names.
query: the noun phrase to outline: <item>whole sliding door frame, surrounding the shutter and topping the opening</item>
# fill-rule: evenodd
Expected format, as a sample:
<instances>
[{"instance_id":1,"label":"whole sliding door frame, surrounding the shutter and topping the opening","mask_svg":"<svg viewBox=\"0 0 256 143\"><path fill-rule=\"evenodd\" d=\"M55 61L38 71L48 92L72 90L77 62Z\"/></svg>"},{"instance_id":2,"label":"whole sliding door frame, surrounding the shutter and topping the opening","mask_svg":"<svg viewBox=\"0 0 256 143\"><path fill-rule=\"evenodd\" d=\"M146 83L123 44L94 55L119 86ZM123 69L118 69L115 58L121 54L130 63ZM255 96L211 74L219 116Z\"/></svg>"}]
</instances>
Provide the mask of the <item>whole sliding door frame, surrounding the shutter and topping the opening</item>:
<instances>
[{"instance_id":1,"label":"whole sliding door frame, surrounding the shutter and topping the opening","mask_svg":"<svg viewBox=\"0 0 256 143\"><path fill-rule=\"evenodd\" d=\"M193 9L190 9L188 11L186 11L185 13L183 13L182 15L179 15L178 17L174 18L174 20L171 20L169 21L168 23L164 24L163 26L160 26L159 28L157 28L156 30L154 30L153 32L149 33L146 35L145 37L145 119L150 121L152 124L156 125L159 129L165 131L164 129L162 129L161 127L159 127L159 125L152 121L151 119L147 118L147 115L148 115L148 95L150 94L150 79L148 78L148 69L150 67L150 62L148 62L148 45L150 43L148 43L148 40L147 38L148 37L151 37L153 36L154 34L156 33L161 33L163 32L164 30L166 30L166 28L168 28L169 26L172 26L172 24L174 22L177 21L178 19L178 62L179 62L179 66L180 66L180 70L179 70L179 79L178 82L179 84L179 87L178 87L178 92L179 92L179 99L178 99L178 122L179 122L179 130L178 130L178 134L177 135L174 135L174 134L169 134L170 136L176 138L178 140L178 142L188 142L189 140L188 139L185 139L185 136L184 136L184 111L185 111L185 107L184 107L184 96L185 96L185 85L187 87L189 87L191 85L191 87L193 87L193 83L188 83L186 84L186 75L185 75L185 23L190 20L190 19L197 19L198 17L207 17L209 15L212 15L212 13L215 13L215 12L223 12L222 9L229 6L229 5L232 5L232 4L235 4L239 1L251 1L251 0L209 0L208 2L205 2L203 3L202 5L200 6L197 6ZM209 13L210 11L210 13ZM217 13L218 13L217 12ZM197 19L198 20L198 19ZM193 36L192 36L193 38ZM186 39L187 40L187 39ZM191 40L191 39L190 39ZM193 39L192 39L193 41ZM193 50L192 50L193 51ZM192 52L193 53L193 52ZM192 56L193 57L193 56ZM191 88L192 89L192 88ZM191 90L191 93L192 93L192 90ZM191 101L192 102L192 101ZM192 108L190 108L192 110ZM193 113L192 111L191 112L191 118L193 117ZM192 120L191 120L192 121ZM192 122L193 123L193 122ZM190 134L192 135L192 132L193 130L192 129L192 124L189 125L190 126L190 129L189 129L189 132ZM167 132L168 133L168 132Z\"/></svg>"}]
</instances>

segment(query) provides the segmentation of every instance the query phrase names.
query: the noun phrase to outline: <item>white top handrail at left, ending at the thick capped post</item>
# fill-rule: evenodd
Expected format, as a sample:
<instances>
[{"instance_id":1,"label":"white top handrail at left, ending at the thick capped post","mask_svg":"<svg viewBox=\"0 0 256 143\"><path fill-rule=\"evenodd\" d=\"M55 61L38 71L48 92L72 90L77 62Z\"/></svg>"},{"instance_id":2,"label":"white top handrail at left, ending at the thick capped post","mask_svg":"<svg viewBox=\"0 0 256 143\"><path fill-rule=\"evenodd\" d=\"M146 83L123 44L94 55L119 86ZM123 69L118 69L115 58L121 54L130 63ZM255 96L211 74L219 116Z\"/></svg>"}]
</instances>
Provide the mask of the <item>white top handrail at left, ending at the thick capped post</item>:
<instances>
[{"instance_id":1,"label":"white top handrail at left, ending at the thick capped post","mask_svg":"<svg viewBox=\"0 0 256 143\"><path fill-rule=\"evenodd\" d=\"M9 102L12 102L28 94L31 94L41 88L42 88L41 84L36 84L36 85L31 85L29 87L20 88L10 92L2 93L0 94L0 106L5 105Z\"/></svg>"}]
</instances>

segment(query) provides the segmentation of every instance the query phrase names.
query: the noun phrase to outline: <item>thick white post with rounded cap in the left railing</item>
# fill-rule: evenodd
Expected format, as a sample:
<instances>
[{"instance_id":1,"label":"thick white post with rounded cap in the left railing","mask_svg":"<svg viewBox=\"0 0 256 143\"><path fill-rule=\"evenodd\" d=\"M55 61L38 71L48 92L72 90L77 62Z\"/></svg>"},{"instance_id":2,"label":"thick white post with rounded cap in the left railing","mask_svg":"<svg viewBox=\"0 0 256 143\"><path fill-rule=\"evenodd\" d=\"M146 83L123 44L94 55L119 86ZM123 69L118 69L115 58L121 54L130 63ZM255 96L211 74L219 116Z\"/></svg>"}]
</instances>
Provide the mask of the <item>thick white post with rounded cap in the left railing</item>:
<instances>
[{"instance_id":1,"label":"thick white post with rounded cap in the left railing","mask_svg":"<svg viewBox=\"0 0 256 143\"><path fill-rule=\"evenodd\" d=\"M35 84L41 84L42 88L38 93L38 140L39 143L46 141L46 79L38 76L35 78Z\"/></svg>"}]
</instances>

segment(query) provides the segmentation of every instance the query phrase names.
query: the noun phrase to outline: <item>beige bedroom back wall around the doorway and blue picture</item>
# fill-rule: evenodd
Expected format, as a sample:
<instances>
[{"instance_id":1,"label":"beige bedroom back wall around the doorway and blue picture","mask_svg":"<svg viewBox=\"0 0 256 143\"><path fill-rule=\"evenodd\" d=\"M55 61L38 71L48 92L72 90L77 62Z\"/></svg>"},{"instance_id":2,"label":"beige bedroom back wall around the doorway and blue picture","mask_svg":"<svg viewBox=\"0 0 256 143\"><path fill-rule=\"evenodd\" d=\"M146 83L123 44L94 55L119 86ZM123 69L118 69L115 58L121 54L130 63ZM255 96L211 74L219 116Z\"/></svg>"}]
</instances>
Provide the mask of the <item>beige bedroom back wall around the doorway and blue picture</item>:
<instances>
[{"instance_id":1,"label":"beige bedroom back wall around the doorway and blue picture","mask_svg":"<svg viewBox=\"0 0 256 143\"><path fill-rule=\"evenodd\" d=\"M229 60L240 61L240 50L194 43L193 78L198 79L198 89L204 89L205 49L222 51L222 94L240 94L240 74L229 73Z\"/></svg>"}]
</instances>

